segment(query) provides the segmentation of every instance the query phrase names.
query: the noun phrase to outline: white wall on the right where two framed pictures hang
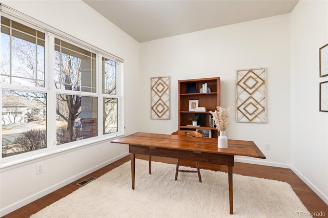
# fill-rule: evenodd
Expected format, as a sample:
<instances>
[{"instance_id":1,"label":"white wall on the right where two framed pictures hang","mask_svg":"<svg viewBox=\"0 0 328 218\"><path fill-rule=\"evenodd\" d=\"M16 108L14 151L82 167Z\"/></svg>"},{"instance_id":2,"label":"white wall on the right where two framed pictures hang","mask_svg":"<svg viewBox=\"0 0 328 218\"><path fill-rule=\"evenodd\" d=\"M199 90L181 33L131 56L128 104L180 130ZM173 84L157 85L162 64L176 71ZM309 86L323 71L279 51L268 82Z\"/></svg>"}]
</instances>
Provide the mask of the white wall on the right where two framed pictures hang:
<instances>
[{"instance_id":1,"label":"white wall on the right where two framed pictures hang","mask_svg":"<svg viewBox=\"0 0 328 218\"><path fill-rule=\"evenodd\" d=\"M319 48L328 43L328 2L291 13L292 169L328 204L328 113L319 112Z\"/></svg>"}]
</instances>

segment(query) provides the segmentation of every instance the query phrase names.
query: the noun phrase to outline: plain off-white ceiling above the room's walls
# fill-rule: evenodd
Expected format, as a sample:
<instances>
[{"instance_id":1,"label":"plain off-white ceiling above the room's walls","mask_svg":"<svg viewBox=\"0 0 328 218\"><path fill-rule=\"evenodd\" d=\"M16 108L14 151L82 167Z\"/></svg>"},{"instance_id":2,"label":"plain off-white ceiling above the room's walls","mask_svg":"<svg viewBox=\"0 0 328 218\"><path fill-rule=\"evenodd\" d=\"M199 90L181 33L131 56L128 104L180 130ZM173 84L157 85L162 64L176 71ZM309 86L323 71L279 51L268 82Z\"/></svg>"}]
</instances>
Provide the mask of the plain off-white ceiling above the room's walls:
<instances>
[{"instance_id":1,"label":"plain off-white ceiling above the room's walls","mask_svg":"<svg viewBox=\"0 0 328 218\"><path fill-rule=\"evenodd\" d=\"M290 13L298 0L83 0L138 42Z\"/></svg>"}]
</instances>

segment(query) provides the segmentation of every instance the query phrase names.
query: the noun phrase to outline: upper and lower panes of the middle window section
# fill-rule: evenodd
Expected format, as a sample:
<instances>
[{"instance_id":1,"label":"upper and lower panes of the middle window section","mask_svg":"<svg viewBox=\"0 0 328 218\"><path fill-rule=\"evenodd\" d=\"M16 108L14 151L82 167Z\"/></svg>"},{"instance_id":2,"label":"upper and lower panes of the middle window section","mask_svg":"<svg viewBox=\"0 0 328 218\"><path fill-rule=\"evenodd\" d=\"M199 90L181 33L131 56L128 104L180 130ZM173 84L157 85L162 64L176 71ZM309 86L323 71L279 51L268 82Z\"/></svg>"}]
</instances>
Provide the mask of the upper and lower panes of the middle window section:
<instances>
[{"instance_id":1,"label":"upper and lower panes of the middle window section","mask_svg":"<svg viewBox=\"0 0 328 218\"><path fill-rule=\"evenodd\" d=\"M95 54L55 39L56 89L93 93L96 91L95 75ZM94 125L97 124L97 108L92 107L97 99L67 93L57 94L57 144L97 136L94 130L83 131L90 128L90 121L91 128L97 129Z\"/></svg>"}]
</instances>

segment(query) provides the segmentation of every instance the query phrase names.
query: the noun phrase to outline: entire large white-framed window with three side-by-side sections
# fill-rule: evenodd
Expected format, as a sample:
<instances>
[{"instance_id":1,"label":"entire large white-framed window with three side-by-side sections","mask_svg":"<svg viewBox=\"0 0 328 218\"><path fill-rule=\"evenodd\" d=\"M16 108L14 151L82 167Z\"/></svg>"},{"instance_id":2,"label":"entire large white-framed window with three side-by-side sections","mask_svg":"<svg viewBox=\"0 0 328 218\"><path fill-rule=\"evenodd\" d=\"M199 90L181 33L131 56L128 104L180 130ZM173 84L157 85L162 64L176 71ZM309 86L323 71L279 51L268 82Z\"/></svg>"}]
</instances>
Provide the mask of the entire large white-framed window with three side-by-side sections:
<instances>
[{"instance_id":1,"label":"entire large white-framed window with three side-by-side sections","mask_svg":"<svg viewBox=\"0 0 328 218\"><path fill-rule=\"evenodd\" d=\"M1 16L3 159L124 131L121 59L40 26Z\"/></svg>"}]
</instances>

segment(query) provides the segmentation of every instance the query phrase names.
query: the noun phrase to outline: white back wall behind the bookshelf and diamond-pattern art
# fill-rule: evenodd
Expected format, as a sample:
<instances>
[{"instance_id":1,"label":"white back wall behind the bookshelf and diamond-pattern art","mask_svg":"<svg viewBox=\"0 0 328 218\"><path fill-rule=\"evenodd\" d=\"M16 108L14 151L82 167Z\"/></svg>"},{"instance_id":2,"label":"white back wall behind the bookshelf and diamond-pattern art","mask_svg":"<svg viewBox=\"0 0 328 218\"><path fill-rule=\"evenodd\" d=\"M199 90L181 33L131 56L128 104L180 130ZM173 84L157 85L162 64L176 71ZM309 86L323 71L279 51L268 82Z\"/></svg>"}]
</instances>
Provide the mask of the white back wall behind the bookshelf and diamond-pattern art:
<instances>
[{"instance_id":1,"label":"white back wall behind the bookshelf and diamond-pattern art","mask_svg":"<svg viewBox=\"0 0 328 218\"><path fill-rule=\"evenodd\" d=\"M235 122L236 70L267 68L267 123ZM150 77L171 76L171 119L150 119ZM177 81L220 77L221 106L231 106L230 139L252 140L266 160L290 166L290 14L141 43L141 132L171 134L177 124ZM270 143L270 150L265 150Z\"/></svg>"}]
</instances>

